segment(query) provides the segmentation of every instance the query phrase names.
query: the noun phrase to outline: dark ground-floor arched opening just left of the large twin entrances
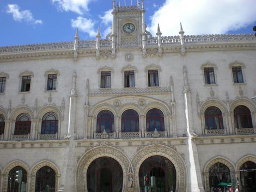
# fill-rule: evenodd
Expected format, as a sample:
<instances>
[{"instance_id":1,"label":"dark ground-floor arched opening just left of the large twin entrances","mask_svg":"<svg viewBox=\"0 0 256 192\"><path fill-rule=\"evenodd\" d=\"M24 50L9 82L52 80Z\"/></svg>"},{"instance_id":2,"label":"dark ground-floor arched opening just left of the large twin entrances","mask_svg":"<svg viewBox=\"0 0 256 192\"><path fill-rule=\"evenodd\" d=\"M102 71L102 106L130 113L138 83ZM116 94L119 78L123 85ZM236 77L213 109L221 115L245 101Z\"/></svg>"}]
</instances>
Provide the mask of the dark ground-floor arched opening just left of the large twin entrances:
<instances>
[{"instance_id":1,"label":"dark ground-floor arched opening just left of the large twin entrances","mask_svg":"<svg viewBox=\"0 0 256 192\"><path fill-rule=\"evenodd\" d=\"M55 171L50 166L43 166L36 172L35 177L35 192L49 191L54 192L55 190Z\"/></svg>"}]
</instances>

